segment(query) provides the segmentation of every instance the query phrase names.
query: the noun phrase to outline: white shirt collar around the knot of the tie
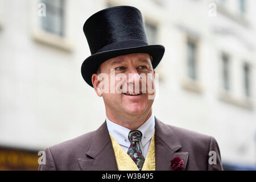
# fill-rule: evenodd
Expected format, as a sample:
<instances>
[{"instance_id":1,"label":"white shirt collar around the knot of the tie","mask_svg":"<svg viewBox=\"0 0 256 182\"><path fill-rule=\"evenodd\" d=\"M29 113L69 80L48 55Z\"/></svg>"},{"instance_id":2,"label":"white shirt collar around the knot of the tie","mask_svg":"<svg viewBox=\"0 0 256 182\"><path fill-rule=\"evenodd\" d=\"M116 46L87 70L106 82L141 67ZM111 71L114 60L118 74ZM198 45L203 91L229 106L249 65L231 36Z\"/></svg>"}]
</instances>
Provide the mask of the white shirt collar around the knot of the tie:
<instances>
[{"instance_id":1,"label":"white shirt collar around the knot of the tie","mask_svg":"<svg viewBox=\"0 0 256 182\"><path fill-rule=\"evenodd\" d=\"M130 133L130 129L118 125L108 119L106 117L106 125L108 127L109 133L114 137L117 142L123 146L130 147L130 141L128 139L128 134ZM141 131L142 139L141 144L144 146L149 140L151 140L154 131L155 131L155 117L152 113L150 118L147 119L146 122L143 123L137 130Z\"/></svg>"}]
</instances>

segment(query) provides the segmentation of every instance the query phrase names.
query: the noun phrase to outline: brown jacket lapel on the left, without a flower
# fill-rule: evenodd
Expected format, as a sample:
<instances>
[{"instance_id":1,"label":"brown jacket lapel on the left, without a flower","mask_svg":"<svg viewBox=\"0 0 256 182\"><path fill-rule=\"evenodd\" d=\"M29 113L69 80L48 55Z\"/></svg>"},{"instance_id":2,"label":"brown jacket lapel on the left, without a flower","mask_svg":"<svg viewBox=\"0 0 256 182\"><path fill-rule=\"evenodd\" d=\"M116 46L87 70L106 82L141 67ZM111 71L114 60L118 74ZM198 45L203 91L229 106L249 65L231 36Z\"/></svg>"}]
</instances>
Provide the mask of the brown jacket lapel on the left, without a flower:
<instances>
[{"instance_id":1,"label":"brown jacket lapel on the left, without a flower","mask_svg":"<svg viewBox=\"0 0 256 182\"><path fill-rule=\"evenodd\" d=\"M78 159L83 171L118 170L106 122L92 134L89 146L85 150L86 158Z\"/></svg>"}]
</instances>

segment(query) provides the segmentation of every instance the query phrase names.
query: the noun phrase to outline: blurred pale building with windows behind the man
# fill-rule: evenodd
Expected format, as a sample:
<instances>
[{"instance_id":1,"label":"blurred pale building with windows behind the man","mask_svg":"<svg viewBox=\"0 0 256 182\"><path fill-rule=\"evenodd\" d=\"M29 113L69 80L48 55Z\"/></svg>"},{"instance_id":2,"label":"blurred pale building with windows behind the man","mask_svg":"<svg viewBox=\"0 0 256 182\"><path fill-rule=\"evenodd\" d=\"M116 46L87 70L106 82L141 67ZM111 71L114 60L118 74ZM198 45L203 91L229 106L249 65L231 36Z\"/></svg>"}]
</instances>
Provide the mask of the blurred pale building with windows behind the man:
<instances>
[{"instance_id":1,"label":"blurred pale building with windows behind the man","mask_svg":"<svg viewBox=\"0 0 256 182\"><path fill-rule=\"evenodd\" d=\"M82 26L119 5L166 47L155 116L216 138L224 169L256 170L254 0L0 0L0 170L36 170L39 151L105 121L80 72Z\"/></svg>"}]
</instances>

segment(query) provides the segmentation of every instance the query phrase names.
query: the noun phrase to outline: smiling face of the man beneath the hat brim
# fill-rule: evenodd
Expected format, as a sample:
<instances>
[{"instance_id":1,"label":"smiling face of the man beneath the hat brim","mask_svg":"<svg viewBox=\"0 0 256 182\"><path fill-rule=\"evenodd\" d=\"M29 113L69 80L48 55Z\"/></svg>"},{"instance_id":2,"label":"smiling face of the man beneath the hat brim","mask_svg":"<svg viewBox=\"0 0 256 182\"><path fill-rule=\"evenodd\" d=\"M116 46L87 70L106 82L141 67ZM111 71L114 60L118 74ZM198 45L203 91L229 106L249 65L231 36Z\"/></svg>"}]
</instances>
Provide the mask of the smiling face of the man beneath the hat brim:
<instances>
[{"instance_id":1,"label":"smiling face of the man beneath the hat brim","mask_svg":"<svg viewBox=\"0 0 256 182\"><path fill-rule=\"evenodd\" d=\"M93 74L92 82L104 99L107 114L129 119L151 111L154 93L148 92L148 86L155 88L155 71L147 53L114 57L102 63L99 71Z\"/></svg>"}]
</instances>

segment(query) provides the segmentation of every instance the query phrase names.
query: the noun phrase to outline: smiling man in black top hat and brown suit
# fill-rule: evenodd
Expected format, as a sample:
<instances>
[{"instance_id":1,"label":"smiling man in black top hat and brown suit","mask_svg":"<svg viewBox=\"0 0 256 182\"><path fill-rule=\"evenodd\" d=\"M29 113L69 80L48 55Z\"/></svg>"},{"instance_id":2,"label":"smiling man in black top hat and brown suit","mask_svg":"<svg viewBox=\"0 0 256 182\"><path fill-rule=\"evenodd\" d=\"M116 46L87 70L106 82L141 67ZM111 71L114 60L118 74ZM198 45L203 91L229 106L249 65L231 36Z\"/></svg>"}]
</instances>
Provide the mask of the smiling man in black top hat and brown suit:
<instances>
[{"instance_id":1,"label":"smiling man in black top hat and brown suit","mask_svg":"<svg viewBox=\"0 0 256 182\"><path fill-rule=\"evenodd\" d=\"M213 137L166 125L152 113L164 47L147 44L138 9L101 10L86 20L84 33L92 55L82 77L103 98L106 121L48 147L39 170L222 170Z\"/></svg>"}]
</instances>

